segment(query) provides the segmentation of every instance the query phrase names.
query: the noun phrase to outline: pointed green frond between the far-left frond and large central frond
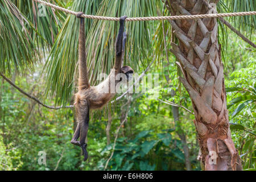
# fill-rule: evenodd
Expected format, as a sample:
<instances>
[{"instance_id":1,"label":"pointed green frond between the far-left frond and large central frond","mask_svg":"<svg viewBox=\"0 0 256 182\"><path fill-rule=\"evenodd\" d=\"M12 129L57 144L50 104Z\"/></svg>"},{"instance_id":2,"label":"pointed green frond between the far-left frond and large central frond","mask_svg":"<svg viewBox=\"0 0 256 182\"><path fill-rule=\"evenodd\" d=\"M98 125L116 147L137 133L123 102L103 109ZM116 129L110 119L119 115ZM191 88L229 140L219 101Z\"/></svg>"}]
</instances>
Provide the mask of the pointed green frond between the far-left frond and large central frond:
<instances>
[{"instance_id":1,"label":"pointed green frond between the far-left frond and large central frond","mask_svg":"<svg viewBox=\"0 0 256 182\"><path fill-rule=\"evenodd\" d=\"M64 3L58 0L51 0L49 2L65 7ZM32 22L30 27L34 28L34 30L31 30L32 39L36 41L43 51L51 48L67 14L34 1L15 0L14 3L26 15L27 19Z\"/></svg>"}]
</instances>

